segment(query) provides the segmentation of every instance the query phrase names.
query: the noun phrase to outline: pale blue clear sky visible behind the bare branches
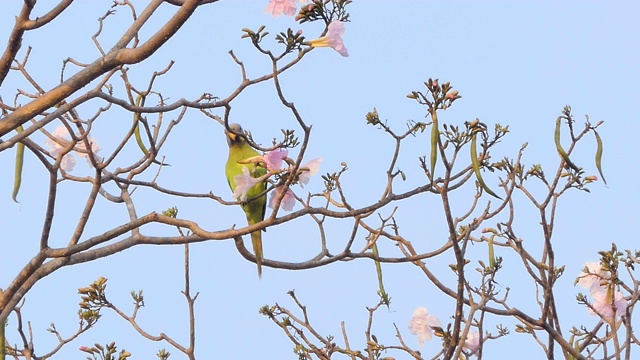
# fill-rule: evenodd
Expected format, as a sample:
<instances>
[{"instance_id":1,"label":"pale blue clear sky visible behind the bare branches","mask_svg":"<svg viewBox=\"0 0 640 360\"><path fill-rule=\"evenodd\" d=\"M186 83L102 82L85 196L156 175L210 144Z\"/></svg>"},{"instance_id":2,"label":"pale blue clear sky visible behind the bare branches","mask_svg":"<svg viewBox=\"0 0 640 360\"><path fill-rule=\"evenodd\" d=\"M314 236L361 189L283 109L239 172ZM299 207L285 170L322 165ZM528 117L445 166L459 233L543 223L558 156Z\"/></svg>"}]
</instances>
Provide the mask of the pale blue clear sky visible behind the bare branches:
<instances>
[{"instance_id":1,"label":"pale blue clear sky visible behind the bare branches","mask_svg":"<svg viewBox=\"0 0 640 360\"><path fill-rule=\"evenodd\" d=\"M95 59L98 53L91 35L97 29L96 19L110 4L110 1L73 4L58 22L27 33L19 57L23 56L26 46L33 47L29 69L43 87L50 89L57 84L63 59L69 56L80 62ZM157 90L165 97L192 99L204 92L226 97L240 81L239 68L228 50L233 49L244 62L250 77L269 71L268 59L260 56L249 41L240 39L242 28L257 29L266 25L271 39L288 27L302 29L308 38L322 31L320 23L299 25L290 17L273 18L264 14L266 4L267 1L223 0L203 6L149 61L130 66L129 76L132 81L144 84L153 71L161 70L174 60L171 72L157 82ZM17 6L17 2L3 4L2 39L7 38ZM44 13L47 6L46 2L38 3L35 14ZM138 11L141 9L139 5ZM158 11L159 20L167 19L173 9L163 5ZM572 106L578 121L585 114L594 123L604 120L600 134L605 144L603 166L609 185L597 182L590 187L590 194L573 191L564 196L554 229L557 258L567 267L558 285L566 333L571 326L589 326L596 322L595 317L586 314L575 302L580 290L573 287L573 280L583 263L596 261L597 251L608 249L612 242L620 249L637 246L629 225L637 222L639 200L636 154L640 149L636 127L640 111L636 105L640 99L636 88L640 83L637 45L640 29L635 19L639 11L640 5L631 1L615 4L355 1L350 7L352 22L347 23L345 34L350 56L344 58L331 49L316 49L299 66L284 74L281 81L285 96L296 104L304 120L313 124L306 156L324 158L321 173L338 171L340 163L346 162L349 171L345 174L344 186L356 205L377 201L393 150L389 137L366 125L365 114L376 107L380 117L397 130L404 129L407 120L422 121L425 108L406 95L412 90L422 90L423 81L429 77L450 81L462 95L453 108L440 115L441 121L462 125L479 118L489 126L508 124L511 133L492 155L513 157L520 146L528 142L524 162L541 163L548 172L558 163L553 127L565 105ZM102 38L105 48L110 47L129 20L128 13L119 9L106 21ZM143 30L142 37L148 36L158 24L150 24L149 30ZM13 75L3 84L0 95L8 101L16 88L24 87L24 82ZM84 116L92 116L99 105L84 106ZM249 88L232 106L232 121L251 130L254 138L264 145L278 137L280 129L295 128L295 119L279 104L272 83ZM167 115L166 121L175 116ZM96 124L94 138L100 141L105 153L115 147L118 135L129 123L130 115L115 109ZM133 144L128 150L132 158L139 155ZM594 151L595 142L587 139L580 144L574 159L584 164L587 172L595 174ZM399 167L408 179L398 185L399 189L424 182L417 158L427 152L426 134L403 144ZM164 148L162 155L167 156L172 166L162 170L159 183L183 191L213 191L230 200L222 175L226 153L221 127L199 112L189 111ZM297 150L291 153L295 155ZM13 151L0 154L0 166L11 169L7 174L13 169L13 156ZM79 161L74 173L86 175L89 168ZM11 176L0 177L4 209L0 226L6 229L0 287L6 287L37 250L46 176L33 156L28 155L25 160L24 177L20 204L11 202ZM487 178L490 183L497 183L496 177L487 175ZM300 194L306 194L307 189L318 192L322 188L320 179L314 179ZM66 243L87 191L87 187L76 184L61 186L52 246ZM471 187L463 189L454 197L454 205L464 209L471 194ZM139 214L177 205L180 217L192 219L208 230L244 224L240 208L223 207L213 201L168 198L144 189L139 189L135 196ZM541 231L535 211L522 196L515 200L522 209L518 219L519 236L525 244L536 248L541 241ZM386 208L381 215L388 216L391 210ZM397 217L403 235L420 250L433 249L446 239L442 208L436 196L424 195L401 202ZM95 235L125 220L123 207L101 201L87 234ZM373 220L372 224L375 224ZM338 252L348 238L352 223L332 220L327 226L329 243L334 252ZM155 235L176 235L175 230L166 227L152 227L147 231ZM310 219L270 228L264 239L266 257L288 261L313 257L319 243ZM356 248L364 246L363 233L358 241ZM390 245L381 251L395 254ZM477 255L480 254L484 252L478 249ZM294 358L292 344L284 334L258 314L260 306L276 302L293 308L286 295L292 289L308 306L311 321L319 332L341 339L340 322L345 321L352 347L365 345L368 316L365 307L377 301L372 262L358 260L305 271L266 268L262 280L258 280L255 265L242 259L231 241L193 245L192 255L192 289L200 293L196 302L197 356ZM512 289L512 305L535 311L533 284L519 276L522 273L518 260L506 251L498 255L505 257L505 267L509 270L503 272L499 282L504 288ZM75 329L79 300L76 289L98 276L109 279L109 298L125 310L131 308L129 292L143 289L146 307L139 315L140 323L150 333L165 332L185 342L186 305L180 294L182 257L180 246L137 247L107 259L64 268L42 280L27 295L23 309L23 316L31 321L34 330L36 350L46 352L55 343L53 336L45 332L49 323L56 323L58 330L66 334ZM445 257L427 265L446 278L450 277L447 268L450 262L452 258ZM390 310L377 313L373 332L382 343L394 344L392 324L395 323L404 340L418 348L416 338L407 329L414 309L425 306L446 322L453 312L453 303L440 295L415 267L403 264L383 268L392 305ZM511 319L490 320L490 324L496 322L514 329ZM12 336L11 331L8 335ZM97 328L68 346L60 357L80 358L78 346L111 341L133 352L134 358L151 358L159 348L167 347L143 340L123 321L105 312ZM438 342L434 341L421 350L427 355L438 348ZM167 349L173 353L172 358L181 358L177 351ZM527 349L532 359L542 356L530 338L513 331L506 340L488 343L485 355L499 358L522 349Z\"/></svg>"}]
</instances>

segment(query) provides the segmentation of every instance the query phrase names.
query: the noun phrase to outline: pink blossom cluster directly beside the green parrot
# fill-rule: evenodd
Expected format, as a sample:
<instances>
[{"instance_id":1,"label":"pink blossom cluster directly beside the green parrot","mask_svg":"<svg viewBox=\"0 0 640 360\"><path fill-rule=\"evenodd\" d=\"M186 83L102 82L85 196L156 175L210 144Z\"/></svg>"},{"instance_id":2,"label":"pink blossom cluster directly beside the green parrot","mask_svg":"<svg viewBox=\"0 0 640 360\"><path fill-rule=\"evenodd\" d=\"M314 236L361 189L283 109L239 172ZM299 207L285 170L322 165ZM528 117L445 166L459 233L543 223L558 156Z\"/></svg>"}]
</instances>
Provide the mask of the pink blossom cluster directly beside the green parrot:
<instances>
[{"instance_id":1,"label":"pink blossom cluster directly beside the green parrot","mask_svg":"<svg viewBox=\"0 0 640 360\"><path fill-rule=\"evenodd\" d=\"M245 201L247 199L247 192L256 184L266 181L266 179L268 179L272 175L291 171L290 167L282 168L284 162L287 162L288 164L293 163L293 161L289 159L288 156L289 151L287 149L276 149L262 156L254 156L252 158L246 159L247 163L254 163L263 166L265 169L267 169L267 173L258 178L254 178L251 176L249 169L246 166L243 167L242 174L236 175L234 177L236 188L233 191L233 198L240 201ZM300 166L297 174L297 180L298 184L300 184L301 187L304 188L304 186L309 183L310 178L318 172L321 161L322 158L316 158ZM283 191L284 184L276 186L275 191L271 193L271 197L269 198L269 207L272 209L275 208L278 198L282 196L280 206L284 210L291 211L293 209L293 205L295 204L295 196L293 194L293 191L291 191L291 189L289 188L287 188L284 195L282 195Z\"/></svg>"}]
</instances>

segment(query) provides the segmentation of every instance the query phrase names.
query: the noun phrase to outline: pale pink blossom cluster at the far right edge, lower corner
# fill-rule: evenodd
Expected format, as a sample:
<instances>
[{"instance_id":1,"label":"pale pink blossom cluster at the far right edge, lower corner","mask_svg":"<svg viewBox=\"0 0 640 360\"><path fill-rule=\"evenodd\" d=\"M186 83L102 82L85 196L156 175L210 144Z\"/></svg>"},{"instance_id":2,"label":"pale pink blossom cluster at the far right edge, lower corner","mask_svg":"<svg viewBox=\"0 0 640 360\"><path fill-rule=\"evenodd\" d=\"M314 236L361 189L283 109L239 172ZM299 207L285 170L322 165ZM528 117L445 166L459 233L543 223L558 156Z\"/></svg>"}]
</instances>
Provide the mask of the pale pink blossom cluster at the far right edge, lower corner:
<instances>
[{"instance_id":1,"label":"pale pink blossom cluster at the far right edge, lower corner","mask_svg":"<svg viewBox=\"0 0 640 360\"><path fill-rule=\"evenodd\" d=\"M589 307L591 315L599 315L610 321L614 316L624 315L627 310L627 301L620 291L614 291L611 274L602 269L599 263L586 263L585 269L578 276L577 283L581 287L589 289L589 293L593 297L593 303Z\"/></svg>"}]
</instances>

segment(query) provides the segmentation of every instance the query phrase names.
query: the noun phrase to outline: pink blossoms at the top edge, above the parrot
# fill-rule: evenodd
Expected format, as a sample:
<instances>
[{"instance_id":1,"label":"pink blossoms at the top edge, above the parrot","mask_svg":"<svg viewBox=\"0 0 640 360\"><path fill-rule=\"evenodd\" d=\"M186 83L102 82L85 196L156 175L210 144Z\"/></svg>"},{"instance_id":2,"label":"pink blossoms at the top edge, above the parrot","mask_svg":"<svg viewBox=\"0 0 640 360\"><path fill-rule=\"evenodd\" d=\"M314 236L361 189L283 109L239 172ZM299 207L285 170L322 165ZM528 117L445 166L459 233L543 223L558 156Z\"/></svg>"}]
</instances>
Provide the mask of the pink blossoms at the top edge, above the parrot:
<instances>
[{"instance_id":1,"label":"pink blossoms at the top edge, above the parrot","mask_svg":"<svg viewBox=\"0 0 640 360\"><path fill-rule=\"evenodd\" d=\"M304 4L308 11L312 11L314 4L308 4L307 0L298 0L299 3ZM282 14L287 16L293 16L296 14L297 5L296 0L269 0L269 4L264 10L265 13L271 13L274 17L278 17ZM296 20L300 20L296 16ZM344 46L342 35L344 35L346 29L344 23L339 20L334 20L327 26L327 34L317 39L306 41L304 44L311 47L330 47L338 52L342 56L349 56L349 51ZM301 31L299 31L301 33Z\"/></svg>"}]
</instances>

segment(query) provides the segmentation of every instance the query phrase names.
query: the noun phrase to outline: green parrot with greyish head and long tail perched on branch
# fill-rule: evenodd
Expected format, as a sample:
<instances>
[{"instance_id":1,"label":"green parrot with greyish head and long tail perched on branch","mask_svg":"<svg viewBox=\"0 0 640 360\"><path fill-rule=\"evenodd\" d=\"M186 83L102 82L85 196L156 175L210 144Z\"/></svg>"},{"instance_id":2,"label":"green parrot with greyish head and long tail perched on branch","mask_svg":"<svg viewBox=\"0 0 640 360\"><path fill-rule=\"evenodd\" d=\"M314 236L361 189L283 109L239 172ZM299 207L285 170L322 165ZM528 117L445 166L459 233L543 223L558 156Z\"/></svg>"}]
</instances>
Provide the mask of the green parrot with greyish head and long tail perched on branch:
<instances>
[{"instance_id":1,"label":"green parrot with greyish head and long tail perched on branch","mask_svg":"<svg viewBox=\"0 0 640 360\"><path fill-rule=\"evenodd\" d=\"M242 126L239 124L230 124L229 128L238 134L244 134ZM258 178L267 173L267 169L262 166L257 166L250 163L241 163L243 160L252 158L254 156L260 156L260 154L247 143L244 137L238 136L234 133L225 130L227 136L227 144L229 144L229 158L227 159L227 165L225 167L225 175L229 182L231 191L236 188L235 177L242 175L242 168L247 168L251 177ZM252 199L258 194L263 192L267 188L267 183L262 181L247 192L247 199ZM266 211L267 197L262 195L257 199L249 200L242 205L247 215L247 221L249 225L257 224L264 220L264 213ZM262 277L262 234L260 230L251 233L251 243L253 245L253 252L256 254L256 265L258 266L258 277Z\"/></svg>"}]
</instances>

